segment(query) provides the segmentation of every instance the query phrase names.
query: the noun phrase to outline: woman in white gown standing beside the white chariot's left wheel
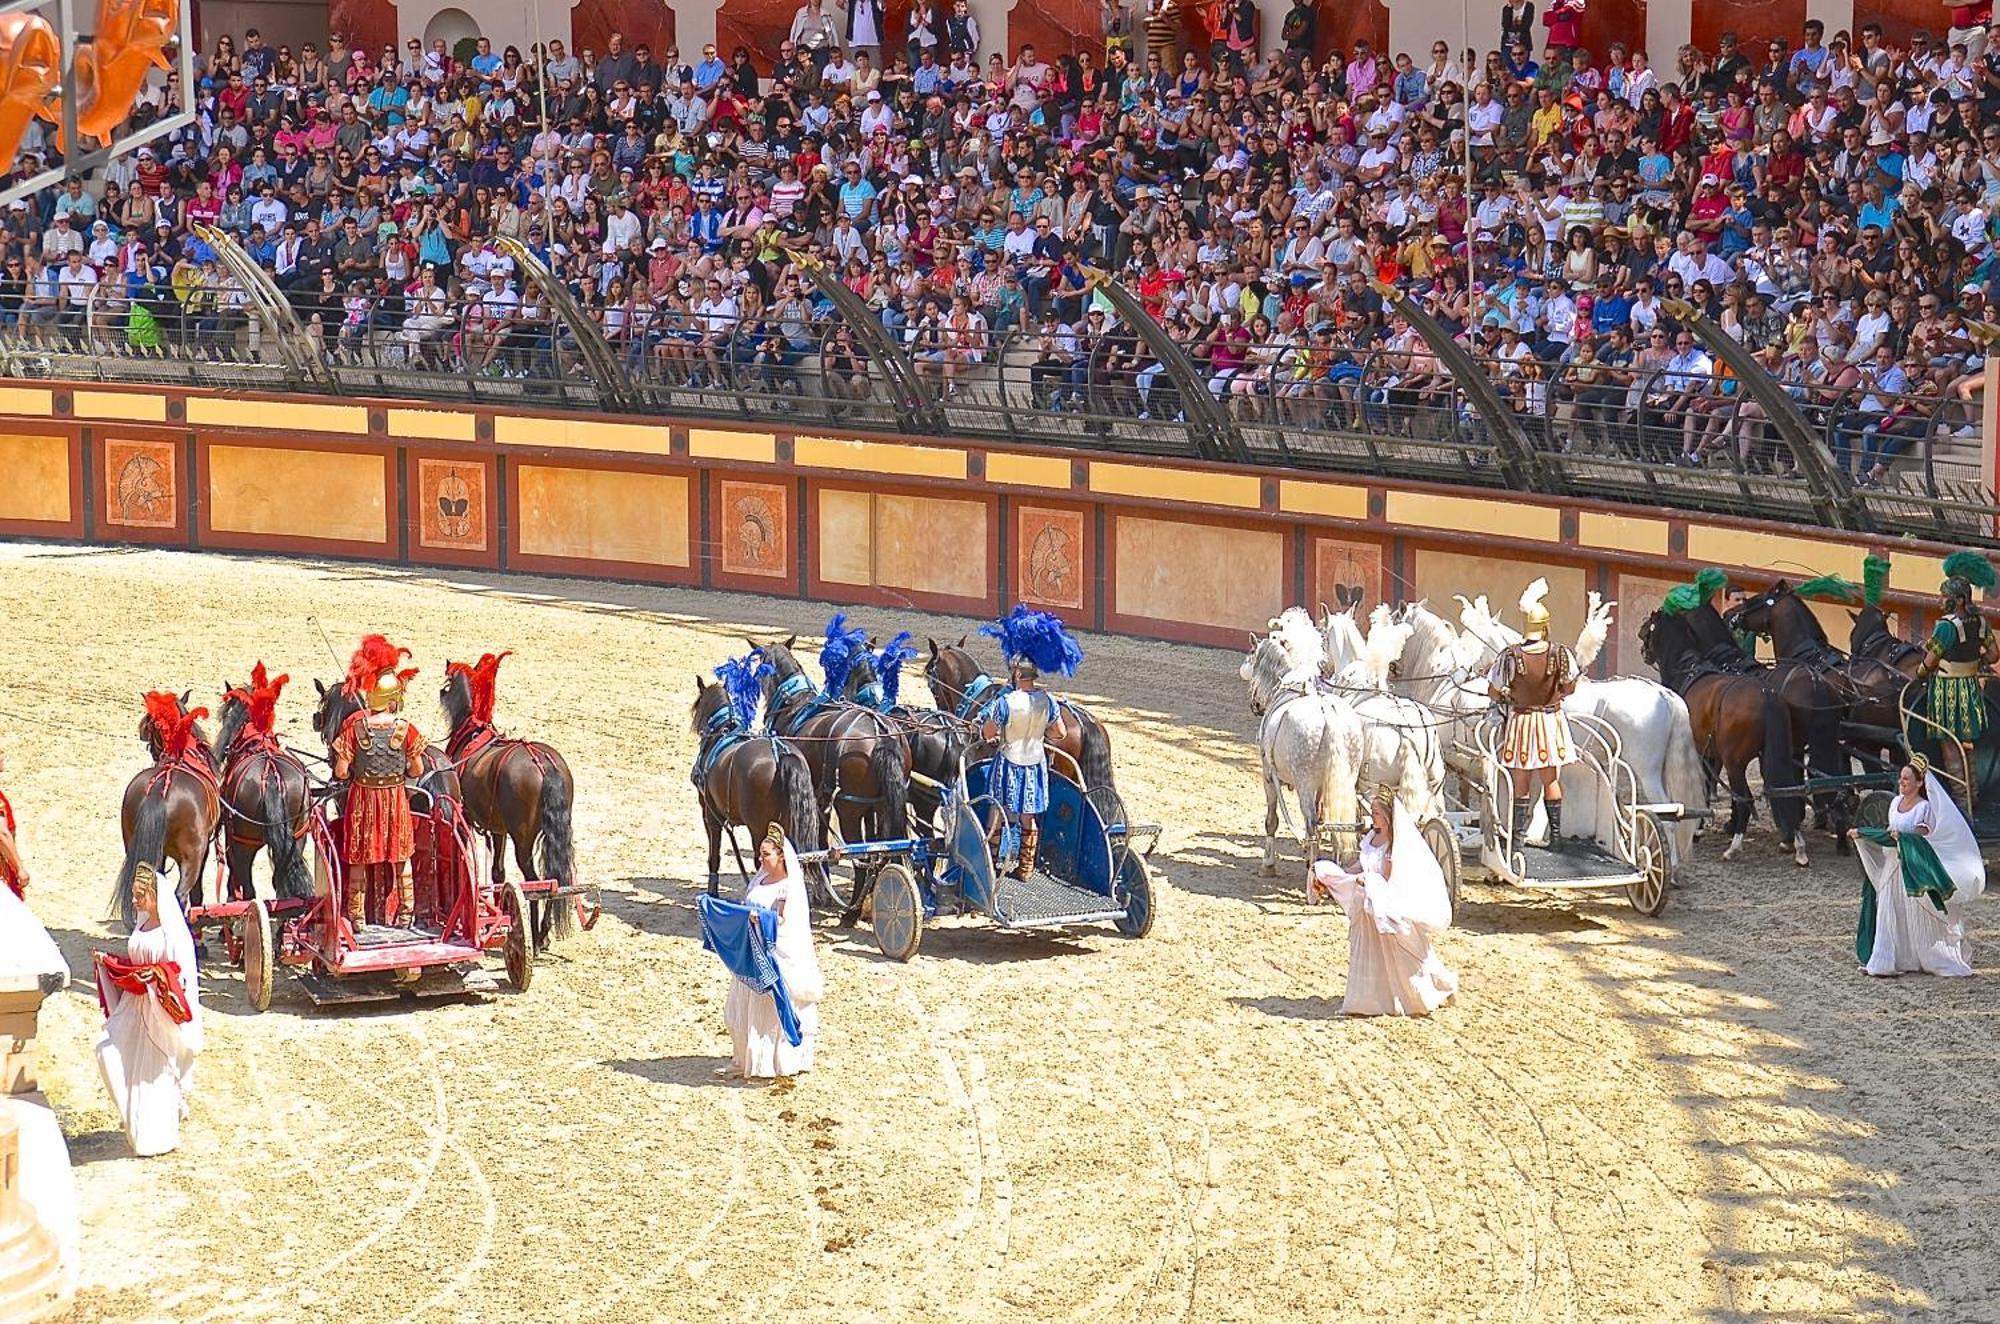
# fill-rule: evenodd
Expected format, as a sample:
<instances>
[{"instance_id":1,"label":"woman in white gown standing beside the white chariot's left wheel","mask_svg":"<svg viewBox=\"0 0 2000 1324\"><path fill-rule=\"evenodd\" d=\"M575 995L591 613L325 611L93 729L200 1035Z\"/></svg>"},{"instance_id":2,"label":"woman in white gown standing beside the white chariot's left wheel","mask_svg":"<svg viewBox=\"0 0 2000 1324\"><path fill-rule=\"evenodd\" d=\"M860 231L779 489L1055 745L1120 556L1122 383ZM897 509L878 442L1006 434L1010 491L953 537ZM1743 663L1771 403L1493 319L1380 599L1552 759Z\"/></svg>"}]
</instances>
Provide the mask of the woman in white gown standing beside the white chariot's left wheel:
<instances>
[{"instance_id":1,"label":"woman in white gown standing beside the white chariot's left wheel","mask_svg":"<svg viewBox=\"0 0 2000 1324\"><path fill-rule=\"evenodd\" d=\"M1430 948L1452 926L1444 868L1388 790L1370 800L1372 830L1360 870L1312 866L1308 898L1332 896L1348 912L1348 1016L1430 1016L1458 992L1458 976Z\"/></svg>"}]
</instances>

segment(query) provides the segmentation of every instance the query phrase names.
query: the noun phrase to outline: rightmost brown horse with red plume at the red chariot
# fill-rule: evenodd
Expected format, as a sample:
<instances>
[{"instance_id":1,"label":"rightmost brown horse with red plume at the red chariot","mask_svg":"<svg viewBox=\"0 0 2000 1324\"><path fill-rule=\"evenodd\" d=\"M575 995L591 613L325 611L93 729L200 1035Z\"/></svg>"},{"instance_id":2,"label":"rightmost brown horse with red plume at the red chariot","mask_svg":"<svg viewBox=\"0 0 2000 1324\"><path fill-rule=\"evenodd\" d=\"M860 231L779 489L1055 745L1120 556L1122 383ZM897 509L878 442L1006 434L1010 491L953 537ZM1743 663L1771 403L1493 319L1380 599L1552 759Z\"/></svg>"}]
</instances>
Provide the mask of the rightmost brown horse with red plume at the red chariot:
<instances>
[{"instance_id":1,"label":"rightmost brown horse with red plume at the red chariot","mask_svg":"<svg viewBox=\"0 0 2000 1324\"><path fill-rule=\"evenodd\" d=\"M452 724L444 752L458 768L466 820L492 842L494 888L506 886L508 842L514 844L514 864L524 882L552 878L570 888L576 882L570 834L576 778L554 746L510 740L494 730L494 676L506 656L488 652L470 666L444 664L438 702ZM540 872L534 862L536 842L542 842ZM576 904L574 896L534 898L536 944L548 946L552 936L576 932Z\"/></svg>"}]
</instances>

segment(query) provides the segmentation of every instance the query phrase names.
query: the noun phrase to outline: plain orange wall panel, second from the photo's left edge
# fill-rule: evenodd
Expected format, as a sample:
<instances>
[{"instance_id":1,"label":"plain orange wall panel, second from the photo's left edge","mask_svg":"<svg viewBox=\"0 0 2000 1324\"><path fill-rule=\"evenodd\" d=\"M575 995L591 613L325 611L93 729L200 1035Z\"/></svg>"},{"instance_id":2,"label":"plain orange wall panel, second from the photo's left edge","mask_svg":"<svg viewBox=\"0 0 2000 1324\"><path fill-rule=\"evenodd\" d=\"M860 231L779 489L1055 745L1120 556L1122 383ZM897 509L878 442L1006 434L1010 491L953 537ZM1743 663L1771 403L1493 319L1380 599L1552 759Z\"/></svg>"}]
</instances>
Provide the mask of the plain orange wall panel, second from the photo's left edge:
<instances>
[{"instance_id":1,"label":"plain orange wall panel, second from the photo's left edge","mask_svg":"<svg viewBox=\"0 0 2000 1324\"><path fill-rule=\"evenodd\" d=\"M388 462L350 450L208 448L208 526L218 534L388 540Z\"/></svg>"}]
</instances>

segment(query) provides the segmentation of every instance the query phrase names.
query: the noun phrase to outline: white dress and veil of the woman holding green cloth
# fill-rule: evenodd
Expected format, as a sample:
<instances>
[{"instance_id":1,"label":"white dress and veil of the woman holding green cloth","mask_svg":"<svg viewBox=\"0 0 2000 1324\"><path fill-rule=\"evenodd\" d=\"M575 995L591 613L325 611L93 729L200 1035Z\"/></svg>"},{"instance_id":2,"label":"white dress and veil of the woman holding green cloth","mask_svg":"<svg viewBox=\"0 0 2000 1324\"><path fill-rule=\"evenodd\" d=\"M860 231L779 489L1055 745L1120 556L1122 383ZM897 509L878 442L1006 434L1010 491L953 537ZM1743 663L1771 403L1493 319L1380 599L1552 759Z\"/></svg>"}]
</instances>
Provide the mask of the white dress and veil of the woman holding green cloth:
<instances>
[{"instance_id":1,"label":"white dress and veil of the woman holding green cloth","mask_svg":"<svg viewBox=\"0 0 2000 1324\"><path fill-rule=\"evenodd\" d=\"M1868 884L1876 894L1874 946L1862 964L1866 974L1906 974L1924 970L1928 974L1966 976L1972 974L1972 942L1966 936L1966 912L1980 892L1986 890L1986 862L1980 846L1966 824L1958 804L1950 798L1936 774L1926 774L1924 800L1904 812L1902 796L1890 800L1888 826L1894 832L1924 830L1924 838L1938 854L1938 864L1950 876L1954 892L1944 902L1944 912L1930 902L1930 896L1910 896L1902 886L1902 854L1894 846L1876 846L1858 840L1862 868L1868 870Z\"/></svg>"}]
</instances>

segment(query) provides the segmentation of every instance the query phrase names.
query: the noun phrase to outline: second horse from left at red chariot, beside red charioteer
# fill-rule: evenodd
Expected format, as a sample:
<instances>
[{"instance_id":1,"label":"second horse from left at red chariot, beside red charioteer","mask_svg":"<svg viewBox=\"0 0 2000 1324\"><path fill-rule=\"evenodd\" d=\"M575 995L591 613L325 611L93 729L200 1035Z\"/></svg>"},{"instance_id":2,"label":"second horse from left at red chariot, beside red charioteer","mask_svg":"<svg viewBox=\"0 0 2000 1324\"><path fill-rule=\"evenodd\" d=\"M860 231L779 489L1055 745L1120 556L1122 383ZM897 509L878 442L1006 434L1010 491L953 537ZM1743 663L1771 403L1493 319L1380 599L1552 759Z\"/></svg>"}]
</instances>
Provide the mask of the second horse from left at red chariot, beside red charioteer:
<instances>
[{"instance_id":1,"label":"second horse from left at red chariot, beside red charioteer","mask_svg":"<svg viewBox=\"0 0 2000 1324\"><path fill-rule=\"evenodd\" d=\"M260 850L270 852L274 894L312 896L304 850L312 778L306 774L306 764L278 744L272 726L286 680L288 676L268 680L264 664L258 662L248 686L222 686L216 748L222 750L220 794L226 816L224 860L230 900L256 894L250 870Z\"/></svg>"}]
</instances>

